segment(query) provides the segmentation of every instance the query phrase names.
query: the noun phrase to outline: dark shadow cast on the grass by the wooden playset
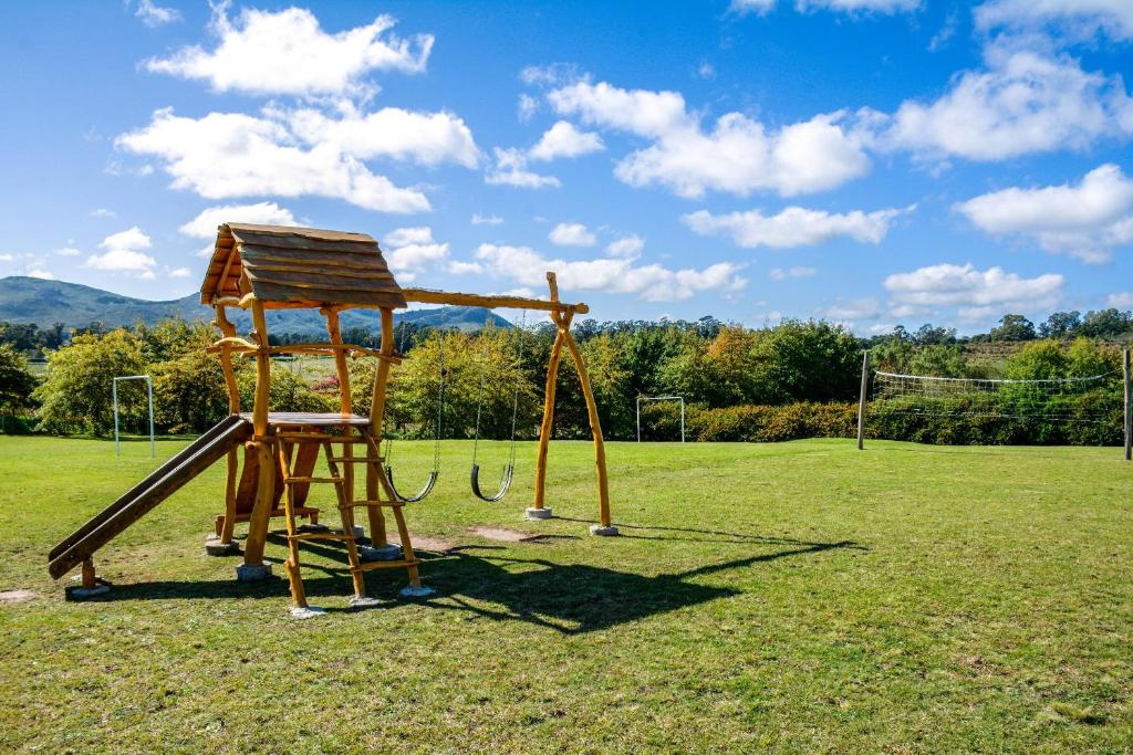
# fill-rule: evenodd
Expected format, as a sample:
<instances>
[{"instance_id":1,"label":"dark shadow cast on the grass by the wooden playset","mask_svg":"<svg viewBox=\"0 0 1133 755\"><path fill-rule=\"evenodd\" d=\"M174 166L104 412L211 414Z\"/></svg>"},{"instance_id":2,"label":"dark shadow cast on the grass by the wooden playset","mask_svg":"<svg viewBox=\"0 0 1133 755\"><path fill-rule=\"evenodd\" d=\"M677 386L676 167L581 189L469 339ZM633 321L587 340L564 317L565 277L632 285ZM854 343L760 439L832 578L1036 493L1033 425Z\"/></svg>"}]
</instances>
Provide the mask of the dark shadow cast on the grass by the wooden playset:
<instances>
[{"instance_id":1,"label":"dark shadow cast on the grass by the wooden playset","mask_svg":"<svg viewBox=\"0 0 1133 755\"><path fill-rule=\"evenodd\" d=\"M556 564L543 558L504 556L513 551L503 546L458 546L444 554L420 552L425 583L437 591L420 604L436 610L470 612L487 620L523 621L564 635L586 634L629 621L731 598L742 590L699 584L695 580L712 574L750 567L781 558L803 557L834 549L861 549L851 541L828 543L789 543L787 548L708 564L678 574L648 576L585 564ZM347 610L350 577L346 552L326 543L307 547L306 555L320 555L333 561L304 564L304 586L315 606ZM248 600L288 594L282 564L271 560L275 578L255 583L148 582L116 585L103 600ZM394 578L367 580L369 594L386 600L376 609L395 610L403 606L397 591L404 585L404 573Z\"/></svg>"}]
</instances>

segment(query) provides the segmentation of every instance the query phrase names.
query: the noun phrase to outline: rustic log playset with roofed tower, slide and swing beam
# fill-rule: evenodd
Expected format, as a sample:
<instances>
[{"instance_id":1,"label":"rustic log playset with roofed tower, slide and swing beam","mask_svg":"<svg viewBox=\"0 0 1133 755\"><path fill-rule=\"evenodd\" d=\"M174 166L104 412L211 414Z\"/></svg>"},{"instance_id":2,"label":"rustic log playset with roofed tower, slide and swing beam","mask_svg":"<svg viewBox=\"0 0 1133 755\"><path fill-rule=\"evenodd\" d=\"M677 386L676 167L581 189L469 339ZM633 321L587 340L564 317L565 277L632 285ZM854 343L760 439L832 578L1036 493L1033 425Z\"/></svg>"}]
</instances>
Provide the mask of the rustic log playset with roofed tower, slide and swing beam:
<instances>
[{"instance_id":1,"label":"rustic log playset with roofed tower, slide and swing beam","mask_svg":"<svg viewBox=\"0 0 1133 755\"><path fill-rule=\"evenodd\" d=\"M235 526L247 522L244 563L237 567L240 581L269 576L264 548L273 517L286 523L288 557L286 569L291 586L292 611L308 616L318 609L307 606L304 591L300 546L307 541L333 540L343 543L353 582L352 606L372 601L366 597L364 575L373 569L404 568L409 586L406 597L432 591L420 583L419 559L415 556L406 522L409 499L399 497L381 454L386 389L391 369L402 355L394 348L393 312L410 302L516 308L546 311L556 334L547 364L543 421L535 471L535 499L528 518L548 518L546 507L547 446L554 421L559 366L565 349L578 370L586 398L594 439L598 488L598 524L594 534L615 535L610 518L610 491L602 427L586 363L570 333L576 315L586 314L583 303L559 300L554 273L547 273L548 299L510 295L480 295L402 289L385 264L377 242L369 235L291 226L228 223L220 226L208 271L201 288L201 301L215 311L215 325L222 337L207 350L218 353L229 394L230 417L202 436L133 488L119 500L87 522L57 546L49 557L56 578L83 565L83 589L97 590L93 554L119 532L140 518L181 484L208 465L227 458L224 513L216 517L216 537L207 544L213 555L239 552ZM253 331L240 337L228 317L228 308L250 310ZM272 309L313 308L326 318L325 342L271 345L265 312ZM381 315L381 348L366 349L343 343L340 314L352 308L377 309ZM340 387L340 411L332 413L273 412L270 409L272 358L280 354L324 354L334 359ZM250 412L241 412L233 359L255 360L255 398ZM367 417L353 412L348 359L377 360L370 411ZM242 463L241 463L242 446ZM320 455L329 474L315 469ZM358 484L358 466L363 484ZM341 526L337 530L318 522L320 511L308 506L313 484L331 484L335 490ZM359 490L361 496L358 497ZM364 529L355 513L365 509L369 546L357 541ZM392 514L399 543L387 534L386 509ZM307 523L300 525L300 520Z\"/></svg>"}]
</instances>

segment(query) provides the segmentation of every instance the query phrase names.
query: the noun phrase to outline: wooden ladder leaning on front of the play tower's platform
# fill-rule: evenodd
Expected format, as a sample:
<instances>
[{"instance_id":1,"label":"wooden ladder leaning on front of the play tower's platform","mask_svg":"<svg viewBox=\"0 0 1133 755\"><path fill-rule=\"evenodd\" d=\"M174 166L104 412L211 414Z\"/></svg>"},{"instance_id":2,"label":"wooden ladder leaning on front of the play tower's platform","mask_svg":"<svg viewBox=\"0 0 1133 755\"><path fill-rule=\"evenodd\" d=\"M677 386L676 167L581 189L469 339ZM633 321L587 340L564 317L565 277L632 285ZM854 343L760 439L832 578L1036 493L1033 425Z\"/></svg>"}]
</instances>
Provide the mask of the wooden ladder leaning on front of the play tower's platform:
<instances>
[{"instance_id":1,"label":"wooden ladder leaning on front of the play tower's platform","mask_svg":"<svg viewBox=\"0 0 1133 755\"><path fill-rule=\"evenodd\" d=\"M414 556L414 548L409 541L409 529L406 525L406 516L401 511L404 507L404 501L398 498L398 495L393 491L393 487L390 484L390 481L385 475L384 460L382 458L377 441L374 440L374 436L369 432L368 428L355 427L352 429L358 431L358 436L350 435L349 430L348 435L341 436L329 435L325 432L303 431L278 432L275 436L276 454L279 455L280 469L283 471L283 508L287 521L288 541L288 559L284 566L288 580L291 583L291 600L293 603L292 612L297 616L307 616L312 612L317 612L317 609L312 609L307 604L307 594L303 586L303 574L299 561L299 543L304 541L332 540L346 543L347 558L350 564L350 577L353 581L355 591L353 597L350 599L351 607L361 608L377 603L377 601L366 595L366 582L364 576L366 572L372 572L374 569L404 568L409 573L410 586L402 591L403 595L419 597L432 592L428 589L423 587L420 584L420 576L417 570L420 560ZM323 453L326 456L326 465L330 471L330 477L300 477L292 474L291 447L308 443L317 443L322 446ZM346 451L351 444L358 443L366 447L366 454L364 456L353 456ZM335 455L334 445L343 446L343 453L341 455ZM377 499L355 499L352 490L353 475L340 473L340 463L364 464L368 474L374 475L374 478L378 481ZM299 515L299 512L296 506L295 486L320 483L334 486L334 491L338 497L339 518L342 522L341 533L332 530L301 532L296 524L296 518ZM353 512L356 508L393 509L393 518L398 524L398 533L401 538L400 559L374 561L361 560L358 552L357 539L355 537Z\"/></svg>"}]
</instances>

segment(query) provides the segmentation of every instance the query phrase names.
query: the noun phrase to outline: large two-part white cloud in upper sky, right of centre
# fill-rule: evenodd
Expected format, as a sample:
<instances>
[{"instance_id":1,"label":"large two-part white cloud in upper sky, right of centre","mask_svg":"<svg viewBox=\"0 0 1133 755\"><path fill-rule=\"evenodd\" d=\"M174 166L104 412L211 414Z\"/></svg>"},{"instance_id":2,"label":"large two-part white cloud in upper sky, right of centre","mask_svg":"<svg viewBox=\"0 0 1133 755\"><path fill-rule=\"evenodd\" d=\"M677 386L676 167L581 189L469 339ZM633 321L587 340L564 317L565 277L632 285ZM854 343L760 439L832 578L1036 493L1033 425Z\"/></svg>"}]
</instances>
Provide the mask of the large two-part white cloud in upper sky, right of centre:
<instances>
[{"instance_id":1,"label":"large two-part white cloud in upper sky, right of centre","mask_svg":"<svg viewBox=\"0 0 1133 755\"><path fill-rule=\"evenodd\" d=\"M726 113L706 131L676 92L620 89L605 81L553 89L547 100L562 115L649 139L616 164L614 174L633 187L664 186L698 198L707 190L784 196L832 189L869 170L858 137L826 113L768 132L741 113Z\"/></svg>"}]
</instances>

